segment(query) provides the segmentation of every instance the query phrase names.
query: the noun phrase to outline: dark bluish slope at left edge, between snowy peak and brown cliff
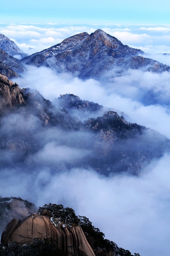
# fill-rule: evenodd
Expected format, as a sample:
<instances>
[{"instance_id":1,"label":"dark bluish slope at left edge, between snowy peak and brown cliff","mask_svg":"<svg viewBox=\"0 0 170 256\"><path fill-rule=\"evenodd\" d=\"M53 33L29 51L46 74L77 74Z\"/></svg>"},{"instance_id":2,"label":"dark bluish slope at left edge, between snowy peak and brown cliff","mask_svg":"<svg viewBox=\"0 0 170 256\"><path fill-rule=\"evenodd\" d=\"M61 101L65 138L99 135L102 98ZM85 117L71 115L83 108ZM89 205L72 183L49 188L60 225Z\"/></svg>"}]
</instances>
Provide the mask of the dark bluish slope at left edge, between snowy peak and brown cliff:
<instances>
[{"instance_id":1,"label":"dark bluish slope at left edge, between snowy peak and brown cliff","mask_svg":"<svg viewBox=\"0 0 170 256\"><path fill-rule=\"evenodd\" d=\"M22 72L26 71L26 68L21 63L20 60L8 55L1 48L0 48L0 61L2 61L3 64L7 65L8 69L11 69L13 72L16 72L17 74L21 74ZM16 76L16 75L14 75L14 76ZM11 78L11 77L12 77L12 75L10 74L10 76L8 76L8 78Z\"/></svg>"}]
</instances>

